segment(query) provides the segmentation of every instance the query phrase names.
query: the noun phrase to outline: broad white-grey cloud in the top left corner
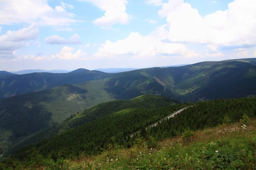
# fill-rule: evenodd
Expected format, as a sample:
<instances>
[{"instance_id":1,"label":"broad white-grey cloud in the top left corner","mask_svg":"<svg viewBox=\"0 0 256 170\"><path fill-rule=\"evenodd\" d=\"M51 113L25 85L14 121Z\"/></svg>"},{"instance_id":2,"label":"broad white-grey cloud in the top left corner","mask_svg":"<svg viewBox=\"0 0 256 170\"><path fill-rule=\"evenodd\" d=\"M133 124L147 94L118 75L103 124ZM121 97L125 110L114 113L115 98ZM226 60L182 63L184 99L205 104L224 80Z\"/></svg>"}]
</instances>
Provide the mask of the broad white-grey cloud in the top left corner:
<instances>
[{"instance_id":1,"label":"broad white-grey cloud in the top left corner","mask_svg":"<svg viewBox=\"0 0 256 170\"><path fill-rule=\"evenodd\" d=\"M37 22L63 26L79 22L74 16L63 6L50 7L47 0L0 0L0 24Z\"/></svg>"}]
</instances>

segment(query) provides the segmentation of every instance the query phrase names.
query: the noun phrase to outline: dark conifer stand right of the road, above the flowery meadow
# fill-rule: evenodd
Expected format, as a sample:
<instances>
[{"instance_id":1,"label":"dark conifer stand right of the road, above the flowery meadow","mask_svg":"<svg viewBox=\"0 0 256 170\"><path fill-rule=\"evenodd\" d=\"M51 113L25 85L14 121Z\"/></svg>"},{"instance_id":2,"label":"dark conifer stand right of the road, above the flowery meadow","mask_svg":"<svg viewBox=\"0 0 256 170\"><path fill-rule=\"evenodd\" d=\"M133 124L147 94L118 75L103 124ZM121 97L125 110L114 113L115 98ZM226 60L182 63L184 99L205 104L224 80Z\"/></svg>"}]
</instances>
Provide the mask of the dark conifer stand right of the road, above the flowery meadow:
<instances>
[{"instance_id":1,"label":"dark conifer stand right of the road, above the flowery meadow","mask_svg":"<svg viewBox=\"0 0 256 170\"><path fill-rule=\"evenodd\" d=\"M186 127L191 130L215 127L223 124L224 116L231 122L239 122L247 113L256 116L256 97L239 99L219 99L208 102L197 102L193 107L149 129L149 135L159 139L178 136Z\"/></svg>"}]
</instances>

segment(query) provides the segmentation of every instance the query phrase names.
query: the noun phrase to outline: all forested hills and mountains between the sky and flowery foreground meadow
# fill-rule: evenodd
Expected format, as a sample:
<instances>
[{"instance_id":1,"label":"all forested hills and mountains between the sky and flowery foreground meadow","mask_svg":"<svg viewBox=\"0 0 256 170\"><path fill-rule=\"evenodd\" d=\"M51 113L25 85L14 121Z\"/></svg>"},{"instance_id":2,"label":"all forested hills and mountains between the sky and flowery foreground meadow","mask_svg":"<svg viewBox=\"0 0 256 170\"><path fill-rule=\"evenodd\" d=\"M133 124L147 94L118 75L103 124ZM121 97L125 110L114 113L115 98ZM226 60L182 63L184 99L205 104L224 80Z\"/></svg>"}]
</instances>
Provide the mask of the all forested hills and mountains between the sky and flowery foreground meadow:
<instances>
[{"instance_id":1,"label":"all forested hills and mountains between the sky and flowery foreground meadow","mask_svg":"<svg viewBox=\"0 0 256 170\"><path fill-rule=\"evenodd\" d=\"M0 156L44 139L44 147L42 143L34 145L35 153L40 151L44 159L57 160L81 153L98 154L114 144L131 147L140 138L130 138L128 134L137 130L154 146L156 141L182 133L186 139L198 129L246 121L246 116L254 117L256 113L255 98L240 99L256 95L253 64L255 59L243 59L118 74L78 69L67 74L0 77L0 98L13 96L0 100ZM196 103L182 114L145 130L147 125L187 105L172 106L174 100L160 96ZM227 98L239 99L222 100ZM212 99L221 100L198 102ZM66 149L64 144L68 145ZM26 147L17 156L29 159L25 151L34 152Z\"/></svg>"}]
</instances>

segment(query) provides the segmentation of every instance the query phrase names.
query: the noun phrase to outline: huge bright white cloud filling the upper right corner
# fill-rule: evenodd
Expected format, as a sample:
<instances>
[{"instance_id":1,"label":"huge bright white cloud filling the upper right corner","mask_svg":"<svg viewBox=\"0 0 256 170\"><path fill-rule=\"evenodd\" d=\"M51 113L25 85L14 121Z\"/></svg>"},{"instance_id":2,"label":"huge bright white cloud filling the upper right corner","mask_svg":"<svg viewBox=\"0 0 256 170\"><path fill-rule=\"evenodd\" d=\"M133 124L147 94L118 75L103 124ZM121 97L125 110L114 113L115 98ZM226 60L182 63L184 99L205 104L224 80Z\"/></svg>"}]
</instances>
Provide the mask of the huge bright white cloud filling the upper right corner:
<instances>
[{"instance_id":1,"label":"huge bright white cloud filling the upper right corner","mask_svg":"<svg viewBox=\"0 0 256 170\"><path fill-rule=\"evenodd\" d=\"M169 0L158 14L166 17L167 39L171 42L219 44L231 48L256 44L255 9L255 0L235 0L229 3L228 10L202 17L189 3Z\"/></svg>"}]
</instances>

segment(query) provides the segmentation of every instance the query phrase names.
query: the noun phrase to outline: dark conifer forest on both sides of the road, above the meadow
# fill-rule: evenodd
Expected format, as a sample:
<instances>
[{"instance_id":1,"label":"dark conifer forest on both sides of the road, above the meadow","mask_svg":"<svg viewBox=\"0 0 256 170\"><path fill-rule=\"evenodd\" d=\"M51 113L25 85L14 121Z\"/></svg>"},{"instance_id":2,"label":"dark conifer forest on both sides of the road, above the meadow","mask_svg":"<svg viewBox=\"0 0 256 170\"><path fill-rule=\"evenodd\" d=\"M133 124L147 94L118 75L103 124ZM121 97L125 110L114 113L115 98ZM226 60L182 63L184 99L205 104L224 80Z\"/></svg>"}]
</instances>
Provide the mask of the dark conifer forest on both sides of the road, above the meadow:
<instances>
[{"instance_id":1,"label":"dark conifer forest on both sides of the road, above the meadow","mask_svg":"<svg viewBox=\"0 0 256 170\"><path fill-rule=\"evenodd\" d=\"M22 161L29 161L33 154L40 153L44 158L57 160L61 157L80 156L82 153L84 155L98 154L101 153L101 148L107 150L109 144L113 143L129 147L135 140L135 138L129 138L129 134L139 129L145 132L143 127L184 106L186 105L117 111L66 130L52 138L44 139L38 144L25 147L17 153L16 157ZM162 140L180 135L186 128L197 130L215 127L227 120L237 122L245 114L249 117L256 116L256 97L197 102L193 107L187 108L177 116L150 128L148 133L141 133L141 135L145 139L151 140L154 137L156 140Z\"/></svg>"}]
</instances>

